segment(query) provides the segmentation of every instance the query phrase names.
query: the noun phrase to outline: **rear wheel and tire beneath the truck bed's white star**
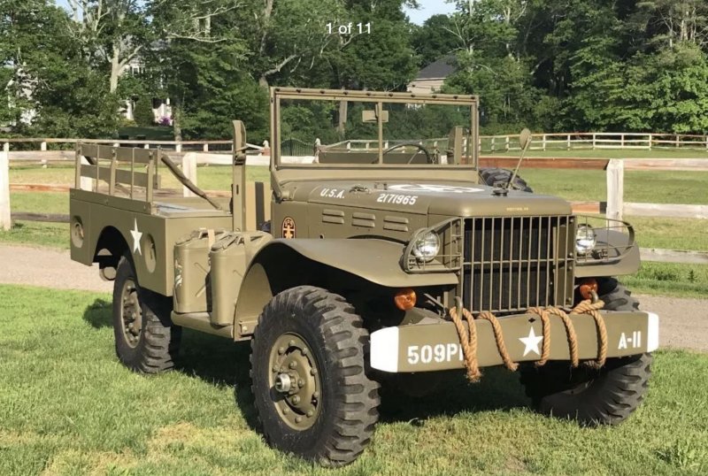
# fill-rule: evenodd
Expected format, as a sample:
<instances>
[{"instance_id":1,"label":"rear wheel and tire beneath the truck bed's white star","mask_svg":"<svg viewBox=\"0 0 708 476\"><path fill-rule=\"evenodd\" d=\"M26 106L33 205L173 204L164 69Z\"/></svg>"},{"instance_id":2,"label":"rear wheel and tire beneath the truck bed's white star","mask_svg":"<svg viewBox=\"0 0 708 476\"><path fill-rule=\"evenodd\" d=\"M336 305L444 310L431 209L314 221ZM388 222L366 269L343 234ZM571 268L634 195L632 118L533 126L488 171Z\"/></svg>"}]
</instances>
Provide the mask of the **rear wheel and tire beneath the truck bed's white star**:
<instances>
[{"instance_id":1,"label":"rear wheel and tire beneath the truck bed's white star","mask_svg":"<svg viewBox=\"0 0 708 476\"><path fill-rule=\"evenodd\" d=\"M141 288L130 257L120 257L113 283L113 334L119 361L134 372L173 368L181 327L170 319L172 303Z\"/></svg>"}]
</instances>

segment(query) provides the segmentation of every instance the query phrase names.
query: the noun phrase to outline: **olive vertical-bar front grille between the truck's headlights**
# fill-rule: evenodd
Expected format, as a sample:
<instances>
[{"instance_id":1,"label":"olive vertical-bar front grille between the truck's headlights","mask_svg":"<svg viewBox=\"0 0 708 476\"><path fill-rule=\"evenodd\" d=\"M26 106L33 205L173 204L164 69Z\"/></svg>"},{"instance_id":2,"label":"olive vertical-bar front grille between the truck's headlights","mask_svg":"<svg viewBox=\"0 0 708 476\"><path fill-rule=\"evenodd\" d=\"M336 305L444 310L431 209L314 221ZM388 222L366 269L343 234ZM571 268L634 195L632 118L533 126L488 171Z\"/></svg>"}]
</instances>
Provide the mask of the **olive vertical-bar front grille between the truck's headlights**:
<instances>
[{"instance_id":1,"label":"olive vertical-bar front grille between the truck's headlights","mask_svg":"<svg viewBox=\"0 0 708 476\"><path fill-rule=\"evenodd\" d=\"M573 217L465 220L463 302L507 312L573 298Z\"/></svg>"}]
</instances>

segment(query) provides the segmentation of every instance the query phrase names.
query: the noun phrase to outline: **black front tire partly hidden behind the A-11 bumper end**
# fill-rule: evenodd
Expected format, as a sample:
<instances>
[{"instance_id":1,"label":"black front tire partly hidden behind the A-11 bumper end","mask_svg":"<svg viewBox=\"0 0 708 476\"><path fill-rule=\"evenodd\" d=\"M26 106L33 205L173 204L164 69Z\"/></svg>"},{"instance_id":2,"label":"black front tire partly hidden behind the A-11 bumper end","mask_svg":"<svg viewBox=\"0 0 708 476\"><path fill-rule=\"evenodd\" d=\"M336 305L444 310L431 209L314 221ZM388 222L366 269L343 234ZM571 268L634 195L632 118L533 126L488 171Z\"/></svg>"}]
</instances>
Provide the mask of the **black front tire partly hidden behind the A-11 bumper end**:
<instances>
[{"instance_id":1,"label":"black front tire partly hidden behind the A-11 bumper end","mask_svg":"<svg viewBox=\"0 0 708 476\"><path fill-rule=\"evenodd\" d=\"M637 311L639 302L617 280L598 282L608 311ZM642 403L649 388L651 354L609 358L601 369L567 362L521 367L521 383L535 410L582 425L618 424Z\"/></svg>"}]
</instances>

